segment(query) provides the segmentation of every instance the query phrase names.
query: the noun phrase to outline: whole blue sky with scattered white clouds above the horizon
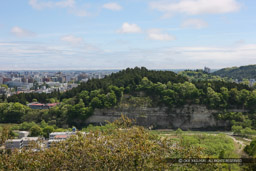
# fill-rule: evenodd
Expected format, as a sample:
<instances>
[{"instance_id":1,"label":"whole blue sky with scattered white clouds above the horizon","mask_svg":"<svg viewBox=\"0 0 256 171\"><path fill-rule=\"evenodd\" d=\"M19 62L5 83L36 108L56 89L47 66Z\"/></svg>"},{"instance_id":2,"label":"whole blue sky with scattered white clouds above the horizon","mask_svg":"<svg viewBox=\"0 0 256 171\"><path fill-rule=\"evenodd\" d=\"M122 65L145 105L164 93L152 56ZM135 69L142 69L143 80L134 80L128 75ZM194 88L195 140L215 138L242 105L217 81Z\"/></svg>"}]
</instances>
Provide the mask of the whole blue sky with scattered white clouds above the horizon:
<instances>
[{"instance_id":1,"label":"whole blue sky with scattered white clouds above the horizon","mask_svg":"<svg viewBox=\"0 0 256 171\"><path fill-rule=\"evenodd\" d=\"M254 0L0 1L0 69L256 63Z\"/></svg>"}]
</instances>

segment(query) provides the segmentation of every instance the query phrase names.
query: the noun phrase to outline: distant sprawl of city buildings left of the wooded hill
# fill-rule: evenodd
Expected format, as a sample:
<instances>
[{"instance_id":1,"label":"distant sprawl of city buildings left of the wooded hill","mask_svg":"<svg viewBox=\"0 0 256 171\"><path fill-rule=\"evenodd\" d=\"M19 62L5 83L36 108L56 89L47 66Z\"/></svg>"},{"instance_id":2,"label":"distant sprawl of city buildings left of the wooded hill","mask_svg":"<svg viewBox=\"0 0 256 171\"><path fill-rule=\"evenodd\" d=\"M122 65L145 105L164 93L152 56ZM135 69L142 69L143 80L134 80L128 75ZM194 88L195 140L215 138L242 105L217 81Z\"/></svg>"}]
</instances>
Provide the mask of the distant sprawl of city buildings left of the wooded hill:
<instances>
[{"instance_id":1,"label":"distant sprawl of city buildings left of the wooded hill","mask_svg":"<svg viewBox=\"0 0 256 171\"><path fill-rule=\"evenodd\" d=\"M0 71L0 84L9 88L0 88L0 93L7 97L19 93L66 92L89 79L101 79L114 71ZM73 82L73 84L70 84ZM44 84L47 84L45 86ZM39 108L38 104L38 108ZM42 105L41 105L42 106ZM43 106L45 107L45 106ZM42 108L43 108L42 107Z\"/></svg>"}]
</instances>

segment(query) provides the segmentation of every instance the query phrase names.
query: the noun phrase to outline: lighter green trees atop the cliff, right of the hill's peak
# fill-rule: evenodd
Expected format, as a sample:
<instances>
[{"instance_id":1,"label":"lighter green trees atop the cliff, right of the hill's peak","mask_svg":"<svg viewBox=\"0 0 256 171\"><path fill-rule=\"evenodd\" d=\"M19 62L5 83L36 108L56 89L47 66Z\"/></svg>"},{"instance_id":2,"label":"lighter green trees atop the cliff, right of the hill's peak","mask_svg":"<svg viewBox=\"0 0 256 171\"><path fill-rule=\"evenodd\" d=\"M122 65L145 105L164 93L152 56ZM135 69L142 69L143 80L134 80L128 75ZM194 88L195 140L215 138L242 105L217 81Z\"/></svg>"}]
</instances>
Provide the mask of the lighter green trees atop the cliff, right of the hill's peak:
<instances>
[{"instance_id":1,"label":"lighter green trees atop the cliff, right of the hill's peak","mask_svg":"<svg viewBox=\"0 0 256 171\"><path fill-rule=\"evenodd\" d=\"M244 88L244 89L243 89ZM184 82L153 83L144 77L137 90L145 91L169 107L185 104L203 104L213 109L246 108L256 110L256 90L236 83Z\"/></svg>"}]
</instances>

